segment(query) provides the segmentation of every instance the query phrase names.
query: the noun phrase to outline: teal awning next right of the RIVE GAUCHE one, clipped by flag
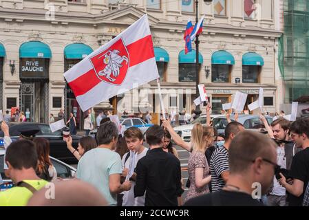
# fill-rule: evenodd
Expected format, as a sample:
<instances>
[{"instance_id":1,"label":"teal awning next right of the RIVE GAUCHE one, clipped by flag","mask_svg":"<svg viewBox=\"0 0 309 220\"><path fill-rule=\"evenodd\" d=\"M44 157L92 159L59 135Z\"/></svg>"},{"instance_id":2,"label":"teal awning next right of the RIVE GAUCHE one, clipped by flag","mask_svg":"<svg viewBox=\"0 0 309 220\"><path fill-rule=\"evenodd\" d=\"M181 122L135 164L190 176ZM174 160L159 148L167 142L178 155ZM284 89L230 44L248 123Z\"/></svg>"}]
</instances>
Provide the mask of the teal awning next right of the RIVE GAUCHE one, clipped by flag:
<instances>
[{"instance_id":1,"label":"teal awning next right of the RIVE GAUCHE one, clipped by flag","mask_svg":"<svg viewBox=\"0 0 309 220\"><path fill-rule=\"evenodd\" d=\"M83 59L85 56L94 52L92 47L83 43L72 43L65 47L65 58L67 59Z\"/></svg>"}]
</instances>

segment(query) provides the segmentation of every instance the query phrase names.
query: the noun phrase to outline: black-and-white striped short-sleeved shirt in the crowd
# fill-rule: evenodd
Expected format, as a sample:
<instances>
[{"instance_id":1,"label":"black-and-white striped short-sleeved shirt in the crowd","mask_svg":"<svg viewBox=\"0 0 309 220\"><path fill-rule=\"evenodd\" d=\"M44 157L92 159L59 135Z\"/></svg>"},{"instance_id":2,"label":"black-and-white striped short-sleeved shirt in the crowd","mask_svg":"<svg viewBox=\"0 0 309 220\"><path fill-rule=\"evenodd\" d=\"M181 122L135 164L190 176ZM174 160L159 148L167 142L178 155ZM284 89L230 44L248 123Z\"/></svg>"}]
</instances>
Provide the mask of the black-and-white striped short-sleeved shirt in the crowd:
<instances>
[{"instance_id":1,"label":"black-and-white striped short-sleeved shirt in the crowd","mask_svg":"<svg viewBox=\"0 0 309 220\"><path fill-rule=\"evenodd\" d=\"M221 174L229 170L228 166L228 150L223 146L216 148L211 155L211 190L215 192L224 187L225 182Z\"/></svg>"}]
</instances>

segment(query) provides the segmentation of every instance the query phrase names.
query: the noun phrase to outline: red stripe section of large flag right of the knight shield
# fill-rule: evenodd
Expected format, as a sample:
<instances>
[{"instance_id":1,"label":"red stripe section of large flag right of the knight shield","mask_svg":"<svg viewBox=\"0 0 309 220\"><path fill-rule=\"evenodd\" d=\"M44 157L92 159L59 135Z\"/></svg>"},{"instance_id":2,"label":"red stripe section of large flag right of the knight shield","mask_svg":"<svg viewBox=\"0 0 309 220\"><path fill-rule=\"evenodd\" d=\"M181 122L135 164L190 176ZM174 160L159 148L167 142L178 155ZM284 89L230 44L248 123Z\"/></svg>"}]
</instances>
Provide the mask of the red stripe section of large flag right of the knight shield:
<instances>
[{"instance_id":1,"label":"red stripe section of large flag right of the knight shield","mask_svg":"<svg viewBox=\"0 0 309 220\"><path fill-rule=\"evenodd\" d=\"M145 36L130 45L127 45L130 56L130 67L138 65L154 57L151 35Z\"/></svg>"}]
</instances>

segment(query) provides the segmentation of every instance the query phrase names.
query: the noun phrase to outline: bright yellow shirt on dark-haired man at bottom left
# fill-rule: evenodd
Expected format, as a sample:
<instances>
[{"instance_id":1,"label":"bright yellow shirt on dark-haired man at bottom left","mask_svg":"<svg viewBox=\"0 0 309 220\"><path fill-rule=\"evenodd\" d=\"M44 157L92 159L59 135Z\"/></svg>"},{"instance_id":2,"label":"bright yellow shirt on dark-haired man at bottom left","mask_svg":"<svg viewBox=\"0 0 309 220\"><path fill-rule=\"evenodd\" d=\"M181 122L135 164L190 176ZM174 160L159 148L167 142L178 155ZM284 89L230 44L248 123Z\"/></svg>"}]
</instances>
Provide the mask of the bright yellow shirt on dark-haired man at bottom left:
<instances>
[{"instance_id":1,"label":"bright yellow shirt on dark-haired man at bottom left","mask_svg":"<svg viewBox=\"0 0 309 220\"><path fill-rule=\"evenodd\" d=\"M39 180L23 180L30 184L36 190L43 188L48 182L44 179ZM0 192L0 207L1 206L27 206L28 200L33 193L23 186L14 186L6 191Z\"/></svg>"}]
</instances>

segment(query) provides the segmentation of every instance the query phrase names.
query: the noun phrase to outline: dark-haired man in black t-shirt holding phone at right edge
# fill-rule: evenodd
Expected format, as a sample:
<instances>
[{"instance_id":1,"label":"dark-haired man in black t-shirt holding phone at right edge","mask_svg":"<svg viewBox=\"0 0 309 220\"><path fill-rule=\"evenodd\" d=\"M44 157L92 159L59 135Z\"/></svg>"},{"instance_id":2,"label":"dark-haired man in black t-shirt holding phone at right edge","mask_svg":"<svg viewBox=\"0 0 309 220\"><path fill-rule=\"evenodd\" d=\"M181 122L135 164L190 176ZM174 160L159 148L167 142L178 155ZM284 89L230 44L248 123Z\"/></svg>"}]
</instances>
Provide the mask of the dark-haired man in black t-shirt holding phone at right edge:
<instances>
[{"instance_id":1,"label":"dark-haired man in black t-shirt holding phone at right edge","mask_svg":"<svg viewBox=\"0 0 309 220\"><path fill-rule=\"evenodd\" d=\"M301 206L303 195L309 181L309 120L299 119L290 126L293 142L303 150L295 154L290 168L292 184L286 182L286 177L281 175L279 183L290 192L289 206Z\"/></svg>"}]
</instances>

